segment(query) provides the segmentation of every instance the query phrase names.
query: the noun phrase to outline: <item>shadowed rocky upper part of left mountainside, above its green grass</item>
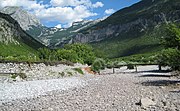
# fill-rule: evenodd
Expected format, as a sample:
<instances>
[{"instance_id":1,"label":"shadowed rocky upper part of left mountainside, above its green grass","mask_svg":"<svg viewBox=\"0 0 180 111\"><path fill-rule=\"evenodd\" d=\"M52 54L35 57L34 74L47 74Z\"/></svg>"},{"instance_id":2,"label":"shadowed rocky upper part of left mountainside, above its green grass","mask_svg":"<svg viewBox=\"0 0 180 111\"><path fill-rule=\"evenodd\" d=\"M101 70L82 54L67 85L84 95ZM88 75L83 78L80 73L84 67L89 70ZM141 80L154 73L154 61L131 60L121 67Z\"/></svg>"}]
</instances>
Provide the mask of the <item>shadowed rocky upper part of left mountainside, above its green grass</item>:
<instances>
[{"instance_id":1,"label":"shadowed rocky upper part of left mountainside, above its green grass","mask_svg":"<svg viewBox=\"0 0 180 111\"><path fill-rule=\"evenodd\" d=\"M25 43L35 49L44 47L40 42L23 31L17 21L3 13L0 13L0 43L7 45Z\"/></svg>"}]
</instances>

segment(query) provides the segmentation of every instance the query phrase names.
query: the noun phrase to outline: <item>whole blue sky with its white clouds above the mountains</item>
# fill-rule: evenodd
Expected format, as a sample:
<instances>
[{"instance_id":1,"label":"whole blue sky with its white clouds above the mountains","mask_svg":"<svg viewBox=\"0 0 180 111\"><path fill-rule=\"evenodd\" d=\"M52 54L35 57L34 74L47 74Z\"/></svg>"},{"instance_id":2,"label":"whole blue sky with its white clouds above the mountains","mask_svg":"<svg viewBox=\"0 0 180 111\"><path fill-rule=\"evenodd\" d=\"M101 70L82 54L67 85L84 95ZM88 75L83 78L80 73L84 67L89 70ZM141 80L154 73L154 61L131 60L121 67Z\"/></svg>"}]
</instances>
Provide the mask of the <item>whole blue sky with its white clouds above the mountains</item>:
<instances>
[{"instance_id":1,"label":"whole blue sky with its white clouds above the mountains","mask_svg":"<svg viewBox=\"0 0 180 111\"><path fill-rule=\"evenodd\" d=\"M110 16L140 0L3 0L0 8L21 6L48 27L69 27L75 21Z\"/></svg>"}]
</instances>

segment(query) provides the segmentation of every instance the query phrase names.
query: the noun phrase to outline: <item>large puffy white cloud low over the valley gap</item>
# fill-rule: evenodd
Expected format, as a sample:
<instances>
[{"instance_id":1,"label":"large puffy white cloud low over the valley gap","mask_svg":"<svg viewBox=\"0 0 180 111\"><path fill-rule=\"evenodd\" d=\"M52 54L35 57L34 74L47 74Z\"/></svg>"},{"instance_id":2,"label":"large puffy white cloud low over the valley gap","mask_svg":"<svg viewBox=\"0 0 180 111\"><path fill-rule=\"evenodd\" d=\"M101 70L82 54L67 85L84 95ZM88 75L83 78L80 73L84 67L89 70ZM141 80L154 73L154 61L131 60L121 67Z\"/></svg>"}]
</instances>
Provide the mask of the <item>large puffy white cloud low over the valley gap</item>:
<instances>
[{"instance_id":1,"label":"large puffy white cloud low over the valley gap","mask_svg":"<svg viewBox=\"0 0 180 111\"><path fill-rule=\"evenodd\" d=\"M60 21L61 23L72 23L84 18L95 16L85 6L72 7L51 7L35 11L35 15L41 20Z\"/></svg>"}]
</instances>

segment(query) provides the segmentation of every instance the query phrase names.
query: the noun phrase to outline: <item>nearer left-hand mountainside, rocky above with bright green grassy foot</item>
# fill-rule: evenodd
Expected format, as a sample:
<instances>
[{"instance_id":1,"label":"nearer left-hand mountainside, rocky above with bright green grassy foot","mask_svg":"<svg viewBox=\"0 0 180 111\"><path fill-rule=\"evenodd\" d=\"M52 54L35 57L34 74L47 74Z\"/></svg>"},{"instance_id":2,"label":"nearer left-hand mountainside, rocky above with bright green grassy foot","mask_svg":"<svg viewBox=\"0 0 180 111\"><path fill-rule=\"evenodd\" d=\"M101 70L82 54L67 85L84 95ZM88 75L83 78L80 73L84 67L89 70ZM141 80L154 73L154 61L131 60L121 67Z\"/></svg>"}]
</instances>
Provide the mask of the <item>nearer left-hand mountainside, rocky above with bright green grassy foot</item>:
<instances>
[{"instance_id":1,"label":"nearer left-hand mountainside, rocky above with bright green grassy foot","mask_svg":"<svg viewBox=\"0 0 180 111\"><path fill-rule=\"evenodd\" d=\"M7 14L0 13L0 57L24 57L36 55L36 49L44 47L28 35Z\"/></svg>"}]
</instances>

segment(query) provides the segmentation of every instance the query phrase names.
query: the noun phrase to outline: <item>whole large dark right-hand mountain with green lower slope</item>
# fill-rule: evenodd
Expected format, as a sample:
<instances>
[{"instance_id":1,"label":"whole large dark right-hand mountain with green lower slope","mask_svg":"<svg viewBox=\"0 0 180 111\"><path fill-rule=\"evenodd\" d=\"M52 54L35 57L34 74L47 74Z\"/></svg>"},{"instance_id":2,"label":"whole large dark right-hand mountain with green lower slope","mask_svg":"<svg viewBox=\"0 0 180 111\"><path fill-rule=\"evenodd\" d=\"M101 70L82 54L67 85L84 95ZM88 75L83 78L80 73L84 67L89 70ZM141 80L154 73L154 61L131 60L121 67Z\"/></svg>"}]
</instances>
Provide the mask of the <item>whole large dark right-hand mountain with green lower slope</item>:
<instances>
[{"instance_id":1,"label":"whole large dark right-hand mountain with green lower slope","mask_svg":"<svg viewBox=\"0 0 180 111\"><path fill-rule=\"evenodd\" d=\"M72 42L90 43L110 58L161 50L165 24L180 22L180 0L141 0L81 30Z\"/></svg>"}]
</instances>

